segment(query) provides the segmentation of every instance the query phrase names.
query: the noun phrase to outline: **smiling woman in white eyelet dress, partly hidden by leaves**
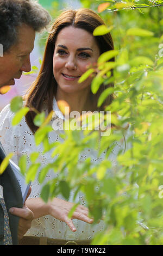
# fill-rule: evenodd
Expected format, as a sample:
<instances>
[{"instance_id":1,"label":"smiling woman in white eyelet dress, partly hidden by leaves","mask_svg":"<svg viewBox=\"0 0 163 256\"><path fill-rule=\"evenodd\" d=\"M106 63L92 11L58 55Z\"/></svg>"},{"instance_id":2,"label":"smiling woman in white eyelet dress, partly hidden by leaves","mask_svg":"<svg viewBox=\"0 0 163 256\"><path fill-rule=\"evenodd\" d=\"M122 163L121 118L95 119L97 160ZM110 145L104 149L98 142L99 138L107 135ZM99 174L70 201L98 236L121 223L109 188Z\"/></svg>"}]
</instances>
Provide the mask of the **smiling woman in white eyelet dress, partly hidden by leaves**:
<instances>
[{"instance_id":1,"label":"smiling woman in white eyelet dress, partly hidden by leaves","mask_svg":"<svg viewBox=\"0 0 163 256\"><path fill-rule=\"evenodd\" d=\"M78 111L80 114L82 111L98 109L98 96L112 84L102 85L98 93L93 95L91 93L92 77L88 77L82 83L78 83L78 81L90 65L97 63L103 52L114 49L110 33L96 36L96 38L92 35L94 29L100 25L104 25L103 20L90 9L67 10L61 13L55 20L51 33L49 33L41 70L30 89L26 106L34 107L37 111L45 111L46 113L53 110L59 113L58 117L61 119L64 117L57 105L59 100L65 100L71 111ZM112 96L108 97L105 105L109 105L111 101ZM11 126L12 115L10 107L7 106L0 116L2 141L3 145L6 145L7 153L11 151L17 153L13 159L16 163L22 154L30 155L32 151L42 153L42 145L36 148L34 143L33 134L38 128L33 124L35 113L29 112L26 115L26 120L23 119L16 128ZM55 131L49 135L49 143L54 141L61 141ZM110 155L110 161L115 162L118 150L122 149L123 146L117 143L117 148L115 147L114 152ZM95 163L99 161L97 153L92 150L81 153L79 161L86 157L91 157ZM43 166L54 160L51 159L51 152L48 152L40 154L39 161ZM49 171L45 182L53 179L54 175L53 170ZM27 200L27 206L34 212L35 220L32 228L26 234L28 235L26 241L24 240L26 244L36 244L39 241L42 243L45 240L40 239L40 237L48 237L46 240L48 244L65 245L68 240L73 240L76 244L87 245L92 237L104 228L102 221L93 225L93 228L89 224L92 223L92 220L87 217L88 210L82 205L86 204L82 193L79 192L80 206L73 214L72 218L76 218L73 223L67 217L68 211L73 206L73 203L70 203L73 194L70 196L70 202L54 198L52 202L45 204L39 198L40 191L41 186L36 179L32 184L31 198Z\"/></svg>"}]
</instances>

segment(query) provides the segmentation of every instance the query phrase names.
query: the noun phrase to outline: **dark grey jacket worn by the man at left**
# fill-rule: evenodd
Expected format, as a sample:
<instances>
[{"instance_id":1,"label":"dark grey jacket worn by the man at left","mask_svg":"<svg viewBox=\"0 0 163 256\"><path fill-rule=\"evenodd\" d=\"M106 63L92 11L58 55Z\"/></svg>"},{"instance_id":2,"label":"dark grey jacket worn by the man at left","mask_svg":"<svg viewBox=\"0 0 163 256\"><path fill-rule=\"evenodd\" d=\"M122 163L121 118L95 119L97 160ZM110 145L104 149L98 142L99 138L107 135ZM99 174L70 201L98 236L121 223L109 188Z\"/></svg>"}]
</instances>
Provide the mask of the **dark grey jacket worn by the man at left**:
<instances>
[{"instance_id":1,"label":"dark grey jacket worn by the man at left","mask_svg":"<svg viewBox=\"0 0 163 256\"><path fill-rule=\"evenodd\" d=\"M4 151L0 145L0 164L4 159ZM12 236L12 244L17 245L17 228L19 218L10 214L9 209L11 207L22 208L23 199L20 185L12 172L10 165L4 171L2 175L0 175L0 185L3 187L3 197L7 207L8 215L9 215L9 224ZM0 205L0 245L3 245L4 239L4 213L2 206Z\"/></svg>"}]
</instances>

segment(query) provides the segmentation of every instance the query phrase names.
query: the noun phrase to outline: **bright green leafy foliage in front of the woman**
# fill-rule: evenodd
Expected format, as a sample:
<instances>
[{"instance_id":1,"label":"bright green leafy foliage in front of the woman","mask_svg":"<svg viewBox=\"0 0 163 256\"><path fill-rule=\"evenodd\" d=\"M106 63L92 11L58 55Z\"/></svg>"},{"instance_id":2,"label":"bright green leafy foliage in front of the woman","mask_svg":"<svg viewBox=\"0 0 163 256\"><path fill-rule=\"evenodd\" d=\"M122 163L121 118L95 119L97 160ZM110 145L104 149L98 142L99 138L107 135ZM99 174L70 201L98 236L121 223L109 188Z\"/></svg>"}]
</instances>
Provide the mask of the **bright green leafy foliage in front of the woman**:
<instances>
[{"instance_id":1,"label":"bright green leafy foliage in front of the woman","mask_svg":"<svg viewBox=\"0 0 163 256\"><path fill-rule=\"evenodd\" d=\"M83 191L90 214L95 222L104 218L106 229L93 240L95 245L161 245L163 242L162 223L162 121L163 121L163 69L162 69L162 9L148 7L133 9L131 6L153 5L146 1L120 3L115 1L84 1L85 7L98 10L107 27L98 28L97 34L110 30L115 51L107 52L100 57L96 69L98 75L93 79L92 92L96 93L102 83L114 81L114 89L106 89L99 97L100 106L106 96L112 92L115 100L106 106L111 111L111 122L119 129L111 129L110 136L99 136L98 131L65 131L63 142L49 144L48 126L50 114L46 119L43 114L36 115L35 124L40 126L35 133L36 145L43 143L45 152L53 149L55 161L40 170L37 153L31 155L30 172L26 166L26 156L20 160L23 174L27 181L34 180L40 172L40 183L43 183L49 169L54 169L57 178L42 188L41 197L47 201L58 194L69 198L72 190ZM104 4L108 3L108 7ZM137 4L137 5L136 5ZM139 4L139 5L138 5ZM155 1L155 5L161 1ZM115 10L112 13L109 11ZM98 9L97 9L98 8ZM108 10L110 9L110 10ZM118 9L118 10L117 10ZM102 10L104 10L102 12ZM109 62L112 56L115 63ZM110 70L114 68L114 77ZM91 71L89 71L91 73ZM90 73L83 76L83 79ZM12 106L18 108L13 109ZM12 111L16 112L14 125L29 109L23 109L21 99L17 97ZM118 115L121 119L117 118ZM115 141L123 138L121 127L130 123L132 136L127 143L131 144L126 152L118 154L118 167L114 175L107 172L111 168L108 159ZM115 132L116 131L116 132ZM93 165L91 159L79 161L84 149L96 149L106 157L101 163ZM33 172L31 171L33 170ZM96 188L99 187L97 190ZM76 207L76 205L74 206ZM74 210L74 209L73 209ZM72 212L70 212L71 217Z\"/></svg>"}]
</instances>

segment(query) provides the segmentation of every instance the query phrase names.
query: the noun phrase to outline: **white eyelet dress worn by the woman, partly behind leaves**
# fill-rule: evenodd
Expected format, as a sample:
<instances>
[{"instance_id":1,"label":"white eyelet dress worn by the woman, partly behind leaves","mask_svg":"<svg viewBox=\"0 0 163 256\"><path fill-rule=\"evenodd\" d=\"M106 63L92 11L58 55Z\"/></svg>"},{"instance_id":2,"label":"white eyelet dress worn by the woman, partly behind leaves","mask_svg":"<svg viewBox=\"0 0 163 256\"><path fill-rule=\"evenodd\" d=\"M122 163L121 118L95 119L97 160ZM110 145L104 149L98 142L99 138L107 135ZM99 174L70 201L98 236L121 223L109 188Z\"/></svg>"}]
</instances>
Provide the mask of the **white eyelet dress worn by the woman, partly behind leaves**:
<instances>
[{"instance_id":1,"label":"white eyelet dress worn by the woman, partly behind leaves","mask_svg":"<svg viewBox=\"0 0 163 256\"><path fill-rule=\"evenodd\" d=\"M63 118L62 113L59 111L57 102L54 98L53 101L53 110L55 113L58 113L59 118ZM33 133L30 131L26 120L23 118L21 123L17 126L11 125L11 120L14 117L14 113L10 111L10 105L7 105L0 114L0 141L4 147L6 154L14 152L15 155L12 158L16 164L18 164L18 160L20 156L23 154L29 156L34 151L39 151L42 153L43 146L42 144L39 147L36 147L34 142ZM51 124L53 120L51 120ZM128 131L127 131L128 132ZM130 133L130 132L129 132ZM128 135L126 133L125 137ZM49 133L49 143L61 141L60 136L56 131ZM127 141L127 139L126 139ZM112 166L116 167L116 157L119 150L124 149L124 141L116 142L116 146L114 150L112 150L109 160L112 162ZM80 160L85 160L87 157L91 157L92 162L95 164L99 161L103 160L105 156L105 152L101 155L101 157L97 157L97 152L92 149L84 150L83 153L80 154ZM42 167L45 166L48 162L51 162L51 153L45 153L39 155L39 162L41 162ZM110 170L111 172L111 170ZM46 175L45 182L51 180L55 177L55 173L53 170L50 170ZM31 198L36 198L40 196L41 185L39 184L38 179L32 183L32 193L30 194ZM61 198L61 197L60 197ZM70 202L73 198L73 192L70 196ZM78 193L79 203L86 206L84 196L82 192ZM67 226L65 222L59 221L52 217L51 215L46 215L40 218L37 218L32 222L32 227L27 231L26 235L29 236L44 236L53 239L65 239L65 240L86 240L92 239L92 237L102 231L104 229L104 222L101 221L96 225L91 225L89 223L85 223L80 220L73 220L74 225L77 227L76 232L72 232L70 228Z\"/></svg>"}]
</instances>

